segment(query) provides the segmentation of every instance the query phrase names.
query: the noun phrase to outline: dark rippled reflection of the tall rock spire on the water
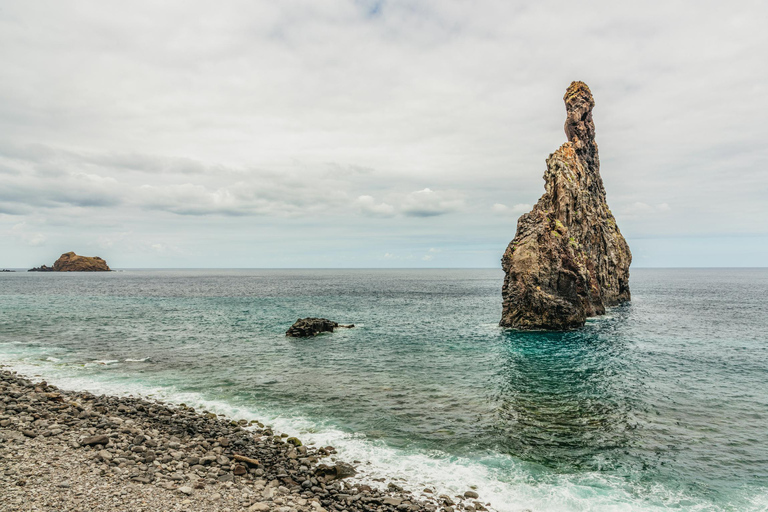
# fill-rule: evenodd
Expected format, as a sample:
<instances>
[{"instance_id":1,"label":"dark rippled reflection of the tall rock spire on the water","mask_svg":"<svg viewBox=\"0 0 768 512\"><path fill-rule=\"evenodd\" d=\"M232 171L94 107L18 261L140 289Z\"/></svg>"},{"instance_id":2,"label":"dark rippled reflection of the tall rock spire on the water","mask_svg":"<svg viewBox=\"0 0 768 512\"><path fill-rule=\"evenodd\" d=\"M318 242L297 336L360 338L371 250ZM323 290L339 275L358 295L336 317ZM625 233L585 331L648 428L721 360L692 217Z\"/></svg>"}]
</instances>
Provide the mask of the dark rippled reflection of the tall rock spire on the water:
<instances>
[{"instance_id":1,"label":"dark rippled reflection of the tall rock spire on the water","mask_svg":"<svg viewBox=\"0 0 768 512\"><path fill-rule=\"evenodd\" d=\"M626 467L642 382L611 324L504 333L495 399L507 453L566 472L616 469L619 456Z\"/></svg>"}]
</instances>

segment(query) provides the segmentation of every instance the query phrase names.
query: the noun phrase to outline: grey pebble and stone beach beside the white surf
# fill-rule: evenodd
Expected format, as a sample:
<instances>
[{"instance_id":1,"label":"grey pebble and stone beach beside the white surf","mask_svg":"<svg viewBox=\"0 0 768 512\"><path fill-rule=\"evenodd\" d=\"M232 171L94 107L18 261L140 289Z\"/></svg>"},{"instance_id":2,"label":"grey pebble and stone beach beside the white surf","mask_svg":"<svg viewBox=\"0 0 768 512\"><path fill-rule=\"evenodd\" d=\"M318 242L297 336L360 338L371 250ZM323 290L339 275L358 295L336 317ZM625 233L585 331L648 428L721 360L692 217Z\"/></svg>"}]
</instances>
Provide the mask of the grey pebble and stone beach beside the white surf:
<instances>
[{"instance_id":1,"label":"grey pebble and stone beach beside the white surf","mask_svg":"<svg viewBox=\"0 0 768 512\"><path fill-rule=\"evenodd\" d=\"M354 461L355 464L359 463ZM477 493L356 482L333 447L184 405L0 370L2 511L484 511Z\"/></svg>"}]
</instances>

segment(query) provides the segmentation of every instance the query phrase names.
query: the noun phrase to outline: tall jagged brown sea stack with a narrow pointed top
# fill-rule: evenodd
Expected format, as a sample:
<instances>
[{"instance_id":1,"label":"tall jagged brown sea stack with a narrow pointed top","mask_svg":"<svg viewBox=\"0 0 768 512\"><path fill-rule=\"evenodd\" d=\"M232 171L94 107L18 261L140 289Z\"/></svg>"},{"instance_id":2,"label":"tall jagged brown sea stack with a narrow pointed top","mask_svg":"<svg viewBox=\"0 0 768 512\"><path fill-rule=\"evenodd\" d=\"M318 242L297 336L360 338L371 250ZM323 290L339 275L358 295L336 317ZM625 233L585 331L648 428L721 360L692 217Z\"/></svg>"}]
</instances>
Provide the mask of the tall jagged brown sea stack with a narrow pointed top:
<instances>
[{"instance_id":1,"label":"tall jagged brown sea stack with a narrow pointed top","mask_svg":"<svg viewBox=\"0 0 768 512\"><path fill-rule=\"evenodd\" d=\"M563 99L568 142L549 155L546 191L501 259L504 327L572 329L630 299L632 254L605 200L595 100L583 82Z\"/></svg>"}]
</instances>

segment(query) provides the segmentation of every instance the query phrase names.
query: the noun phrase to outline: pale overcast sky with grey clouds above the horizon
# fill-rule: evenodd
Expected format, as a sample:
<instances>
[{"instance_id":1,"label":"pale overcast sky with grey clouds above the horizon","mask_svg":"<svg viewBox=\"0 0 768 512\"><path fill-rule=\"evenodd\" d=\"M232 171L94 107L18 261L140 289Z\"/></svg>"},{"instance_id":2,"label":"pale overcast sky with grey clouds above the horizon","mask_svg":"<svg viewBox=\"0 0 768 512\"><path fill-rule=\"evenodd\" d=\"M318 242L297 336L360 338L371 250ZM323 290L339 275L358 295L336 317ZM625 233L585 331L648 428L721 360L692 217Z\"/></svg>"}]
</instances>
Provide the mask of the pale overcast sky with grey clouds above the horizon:
<instances>
[{"instance_id":1,"label":"pale overcast sky with grey clouds above the horizon","mask_svg":"<svg viewBox=\"0 0 768 512\"><path fill-rule=\"evenodd\" d=\"M633 267L768 265L768 2L0 0L0 267L496 267L586 82Z\"/></svg>"}]
</instances>

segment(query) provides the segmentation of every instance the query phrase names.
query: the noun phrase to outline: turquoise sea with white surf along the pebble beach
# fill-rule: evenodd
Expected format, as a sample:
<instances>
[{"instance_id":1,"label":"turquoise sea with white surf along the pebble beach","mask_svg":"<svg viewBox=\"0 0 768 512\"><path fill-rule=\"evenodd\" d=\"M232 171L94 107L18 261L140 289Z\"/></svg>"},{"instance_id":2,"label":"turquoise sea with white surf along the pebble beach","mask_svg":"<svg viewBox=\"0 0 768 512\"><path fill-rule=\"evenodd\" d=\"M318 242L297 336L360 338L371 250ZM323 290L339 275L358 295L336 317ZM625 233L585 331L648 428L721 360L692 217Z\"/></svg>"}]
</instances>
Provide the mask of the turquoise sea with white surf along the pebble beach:
<instances>
[{"instance_id":1,"label":"turquoise sea with white surf along the pebble beach","mask_svg":"<svg viewBox=\"0 0 768 512\"><path fill-rule=\"evenodd\" d=\"M635 269L568 333L496 270L0 274L0 362L259 418L503 511L768 510L768 269ZM299 317L356 328L285 338Z\"/></svg>"}]
</instances>

